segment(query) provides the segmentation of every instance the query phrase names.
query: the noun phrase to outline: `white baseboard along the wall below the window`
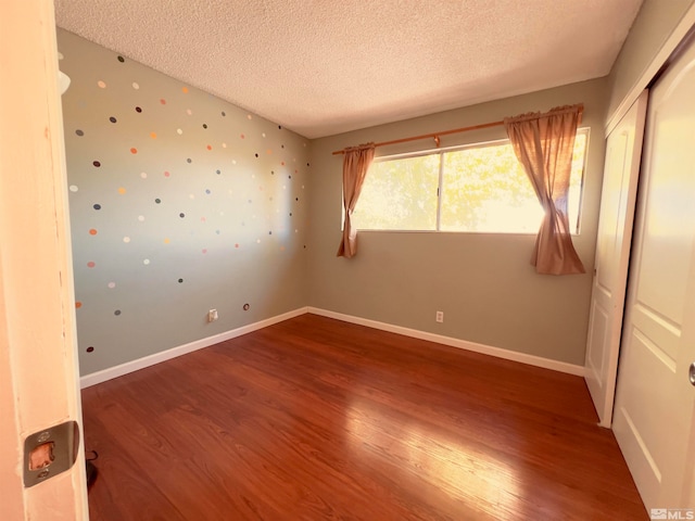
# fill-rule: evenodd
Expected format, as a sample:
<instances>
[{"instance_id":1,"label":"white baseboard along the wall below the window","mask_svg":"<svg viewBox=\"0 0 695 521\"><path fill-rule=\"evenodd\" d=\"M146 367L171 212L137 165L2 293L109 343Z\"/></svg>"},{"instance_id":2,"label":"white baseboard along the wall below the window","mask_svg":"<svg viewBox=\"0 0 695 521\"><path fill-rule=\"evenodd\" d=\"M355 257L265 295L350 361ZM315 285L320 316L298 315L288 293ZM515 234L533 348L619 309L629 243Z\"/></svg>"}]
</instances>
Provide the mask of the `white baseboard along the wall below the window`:
<instances>
[{"instance_id":1,"label":"white baseboard along the wall below the window","mask_svg":"<svg viewBox=\"0 0 695 521\"><path fill-rule=\"evenodd\" d=\"M403 328L401 326L393 326L391 323L379 322L377 320L369 320L367 318L355 317L352 315L343 315L342 313L329 312L329 310L320 309L317 307L309 306L308 313L312 313L314 315L320 315L323 317L336 318L344 322L352 322L352 323L357 323L359 326L367 326L369 328L380 329L382 331L404 334L405 336L412 336L414 339L437 342L438 344L450 345L452 347L472 351L476 353L481 353L483 355L496 356L497 358L504 358L507 360L519 361L521 364L528 364L530 366L542 367L544 369L552 369L554 371L566 372L568 374L574 374L578 377L584 376L583 366L576 366L573 364L568 364L566 361L552 360L549 358L528 355L526 353L517 353L515 351L503 350L501 347L492 347L490 345L478 344L476 342L468 342L466 340L454 339L451 336L444 336L435 333L428 333L425 331L418 331L416 329Z\"/></svg>"}]
</instances>

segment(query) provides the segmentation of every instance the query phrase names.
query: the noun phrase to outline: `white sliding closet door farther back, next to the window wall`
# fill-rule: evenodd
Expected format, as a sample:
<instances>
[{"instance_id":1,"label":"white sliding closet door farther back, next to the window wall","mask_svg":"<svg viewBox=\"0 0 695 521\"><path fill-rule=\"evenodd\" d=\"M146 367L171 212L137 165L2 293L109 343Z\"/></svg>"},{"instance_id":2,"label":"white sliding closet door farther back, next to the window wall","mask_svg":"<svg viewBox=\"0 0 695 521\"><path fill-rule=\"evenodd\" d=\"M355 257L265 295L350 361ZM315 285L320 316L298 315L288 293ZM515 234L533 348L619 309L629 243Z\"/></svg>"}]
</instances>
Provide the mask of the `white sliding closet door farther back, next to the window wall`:
<instances>
[{"instance_id":1,"label":"white sliding closet door farther back, next to the window wall","mask_svg":"<svg viewBox=\"0 0 695 521\"><path fill-rule=\"evenodd\" d=\"M610 427L647 91L606 140L585 379L599 424Z\"/></svg>"}]
</instances>

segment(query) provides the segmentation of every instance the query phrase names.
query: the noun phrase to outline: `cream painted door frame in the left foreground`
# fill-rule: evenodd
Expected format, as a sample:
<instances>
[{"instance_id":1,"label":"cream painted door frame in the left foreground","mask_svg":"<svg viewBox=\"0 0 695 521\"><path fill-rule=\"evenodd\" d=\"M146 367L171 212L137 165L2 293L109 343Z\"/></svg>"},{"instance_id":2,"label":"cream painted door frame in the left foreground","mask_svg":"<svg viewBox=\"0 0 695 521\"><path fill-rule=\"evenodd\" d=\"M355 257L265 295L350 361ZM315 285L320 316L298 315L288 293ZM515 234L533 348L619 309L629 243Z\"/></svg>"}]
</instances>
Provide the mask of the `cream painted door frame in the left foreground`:
<instances>
[{"instance_id":1,"label":"cream painted door frame in the left foreground","mask_svg":"<svg viewBox=\"0 0 695 521\"><path fill-rule=\"evenodd\" d=\"M52 0L3 3L0 63L0 519L87 520L81 435L67 471L23 479L27 436L81 424Z\"/></svg>"}]
</instances>

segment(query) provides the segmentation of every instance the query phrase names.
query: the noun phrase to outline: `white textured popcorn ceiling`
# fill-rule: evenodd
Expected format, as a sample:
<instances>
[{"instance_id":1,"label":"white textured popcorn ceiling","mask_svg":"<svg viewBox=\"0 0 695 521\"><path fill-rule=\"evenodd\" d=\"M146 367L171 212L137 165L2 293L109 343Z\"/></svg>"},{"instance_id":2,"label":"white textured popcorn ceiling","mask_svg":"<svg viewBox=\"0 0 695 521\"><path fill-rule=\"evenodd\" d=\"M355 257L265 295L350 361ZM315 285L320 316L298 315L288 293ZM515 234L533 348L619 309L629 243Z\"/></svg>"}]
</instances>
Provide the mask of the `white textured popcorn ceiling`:
<instances>
[{"instance_id":1,"label":"white textured popcorn ceiling","mask_svg":"<svg viewBox=\"0 0 695 521\"><path fill-rule=\"evenodd\" d=\"M317 138L605 76L641 3L55 0L55 17Z\"/></svg>"}]
</instances>

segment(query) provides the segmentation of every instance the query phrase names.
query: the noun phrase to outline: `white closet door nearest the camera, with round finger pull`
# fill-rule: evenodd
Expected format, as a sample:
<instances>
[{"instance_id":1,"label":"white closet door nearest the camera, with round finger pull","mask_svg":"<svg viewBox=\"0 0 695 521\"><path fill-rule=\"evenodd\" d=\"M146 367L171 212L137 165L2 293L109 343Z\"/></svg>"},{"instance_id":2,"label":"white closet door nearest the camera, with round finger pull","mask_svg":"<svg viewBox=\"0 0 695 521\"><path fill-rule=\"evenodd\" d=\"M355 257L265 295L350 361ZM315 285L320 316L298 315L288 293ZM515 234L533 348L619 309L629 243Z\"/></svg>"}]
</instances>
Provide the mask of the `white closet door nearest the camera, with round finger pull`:
<instances>
[{"instance_id":1,"label":"white closet door nearest the camera, with round finger pull","mask_svg":"<svg viewBox=\"0 0 695 521\"><path fill-rule=\"evenodd\" d=\"M650 508L692 508L695 48L652 91L614 431ZM690 455L690 456L688 456Z\"/></svg>"}]
</instances>

